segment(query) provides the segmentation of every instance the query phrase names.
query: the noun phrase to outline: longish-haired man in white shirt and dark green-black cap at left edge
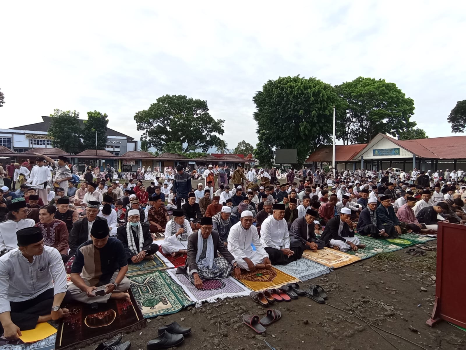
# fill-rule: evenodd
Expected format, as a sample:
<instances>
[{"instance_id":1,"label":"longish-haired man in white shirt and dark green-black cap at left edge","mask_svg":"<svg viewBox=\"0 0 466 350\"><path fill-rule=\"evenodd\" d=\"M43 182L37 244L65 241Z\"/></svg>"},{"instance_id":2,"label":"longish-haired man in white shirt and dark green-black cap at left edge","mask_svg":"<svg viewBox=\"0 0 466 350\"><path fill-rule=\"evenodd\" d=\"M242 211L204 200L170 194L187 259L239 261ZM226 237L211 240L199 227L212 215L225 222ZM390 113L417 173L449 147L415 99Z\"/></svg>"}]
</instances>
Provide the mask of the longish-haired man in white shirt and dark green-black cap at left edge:
<instances>
[{"instance_id":1,"label":"longish-haired man in white shirt and dark green-black cap at left edge","mask_svg":"<svg viewBox=\"0 0 466 350\"><path fill-rule=\"evenodd\" d=\"M0 252L4 249L8 251L16 249L18 247L16 232L35 225L33 219L27 218L26 207L26 200L23 197L14 198L7 205L7 220L0 223Z\"/></svg>"}]
</instances>

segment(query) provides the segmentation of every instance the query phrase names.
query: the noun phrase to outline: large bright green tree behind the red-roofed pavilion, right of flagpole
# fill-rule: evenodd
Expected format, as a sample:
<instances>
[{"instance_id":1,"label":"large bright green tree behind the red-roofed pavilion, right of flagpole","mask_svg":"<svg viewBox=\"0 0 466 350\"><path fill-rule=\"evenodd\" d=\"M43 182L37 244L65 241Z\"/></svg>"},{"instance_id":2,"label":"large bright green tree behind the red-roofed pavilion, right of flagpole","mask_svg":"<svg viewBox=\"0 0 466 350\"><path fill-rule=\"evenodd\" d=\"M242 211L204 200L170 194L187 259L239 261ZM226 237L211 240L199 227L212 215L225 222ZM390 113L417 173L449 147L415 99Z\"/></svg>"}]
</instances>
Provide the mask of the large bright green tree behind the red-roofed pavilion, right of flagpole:
<instances>
[{"instance_id":1,"label":"large bright green tree behind the red-roofed pavilion, right of flagpole","mask_svg":"<svg viewBox=\"0 0 466 350\"><path fill-rule=\"evenodd\" d=\"M336 86L346 101L346 113L339 119L337 138L343 143L368 143L377 133L399 137L414 128L410 121L414 101L394 83L384 79L358 77Z\"/></svg>"}]
</instances>

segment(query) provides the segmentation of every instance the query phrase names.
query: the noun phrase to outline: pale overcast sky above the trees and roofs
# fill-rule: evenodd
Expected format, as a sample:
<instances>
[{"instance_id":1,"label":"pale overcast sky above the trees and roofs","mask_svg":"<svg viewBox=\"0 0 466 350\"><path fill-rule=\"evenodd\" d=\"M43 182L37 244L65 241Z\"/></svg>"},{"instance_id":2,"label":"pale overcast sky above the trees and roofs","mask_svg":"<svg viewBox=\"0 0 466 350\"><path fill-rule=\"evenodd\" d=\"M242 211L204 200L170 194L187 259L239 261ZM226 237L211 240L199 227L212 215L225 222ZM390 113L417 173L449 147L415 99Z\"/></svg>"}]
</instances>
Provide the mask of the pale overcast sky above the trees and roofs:
<instances>
[{"instance_id":1,"label":"pale overcast sky above the trees and roofs","mask_svg":"<svg viewBox=\"0 0 466 350\"><path fill-rule=\"evenodd\" d=\"M225 119L229 148L255 146L255 92L300 74L332 85L385 78L414 99L429 137L449 136L447 117L466 99L466 2L448 3L3 2L0 127L54 108L98 110L139 139L135 112L183 94Z\"/></svg>"}]
</instances>

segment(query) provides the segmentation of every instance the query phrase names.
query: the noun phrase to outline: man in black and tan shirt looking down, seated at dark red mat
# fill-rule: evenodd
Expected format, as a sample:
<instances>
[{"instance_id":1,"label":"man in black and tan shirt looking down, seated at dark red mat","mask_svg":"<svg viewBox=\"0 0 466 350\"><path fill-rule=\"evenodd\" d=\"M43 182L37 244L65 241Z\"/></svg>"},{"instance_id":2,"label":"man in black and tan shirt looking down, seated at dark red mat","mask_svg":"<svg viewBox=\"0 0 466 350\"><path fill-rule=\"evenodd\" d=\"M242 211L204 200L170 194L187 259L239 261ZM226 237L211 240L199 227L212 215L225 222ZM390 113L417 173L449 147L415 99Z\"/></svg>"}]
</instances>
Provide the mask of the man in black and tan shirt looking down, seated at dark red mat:
<instances>
[{"instance_id":1,"label":"man in black and tan shirt looking down, seated at dark red mat","mask_svg":"<svg viewBox=\"0 0 466 350\"><path fill-rule=\"evenodd\" d=\"M123 243L109 237L109 233L107 221L96 220L90 230L91 239L76 250L71 266L73 283L68 287L73 299L87 304L105 303L110 298L130 300L126 293L130 280L124 277L128 262ZM105 294L96 295L96 289L103 289Z\"/></svg>"}]
</instances>

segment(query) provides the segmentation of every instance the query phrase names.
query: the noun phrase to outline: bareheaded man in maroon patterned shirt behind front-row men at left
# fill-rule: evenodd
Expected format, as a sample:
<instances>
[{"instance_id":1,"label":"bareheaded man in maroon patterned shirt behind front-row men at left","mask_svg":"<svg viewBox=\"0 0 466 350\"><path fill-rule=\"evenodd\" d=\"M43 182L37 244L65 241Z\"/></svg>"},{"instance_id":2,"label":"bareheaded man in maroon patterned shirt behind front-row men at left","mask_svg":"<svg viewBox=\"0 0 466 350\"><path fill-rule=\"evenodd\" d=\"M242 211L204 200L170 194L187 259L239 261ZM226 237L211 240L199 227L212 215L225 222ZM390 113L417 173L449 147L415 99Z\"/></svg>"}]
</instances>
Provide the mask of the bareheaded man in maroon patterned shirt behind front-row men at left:
<instances>
[{"instance_id":1,"label":"bareheaded man in maroon patterned shirt behind front-row men at left","mask_svg":"<svg viewBox=\"0 0 466 350\"><path fill-rule=\"evenodd\" d=\"M63 262L68 260L68 228L66 224L55 219L56 208L53 205L44 205L39 210L39 227L44 237L44 244L54 247L62 256Z\"/></svg>"}]
</instances>

